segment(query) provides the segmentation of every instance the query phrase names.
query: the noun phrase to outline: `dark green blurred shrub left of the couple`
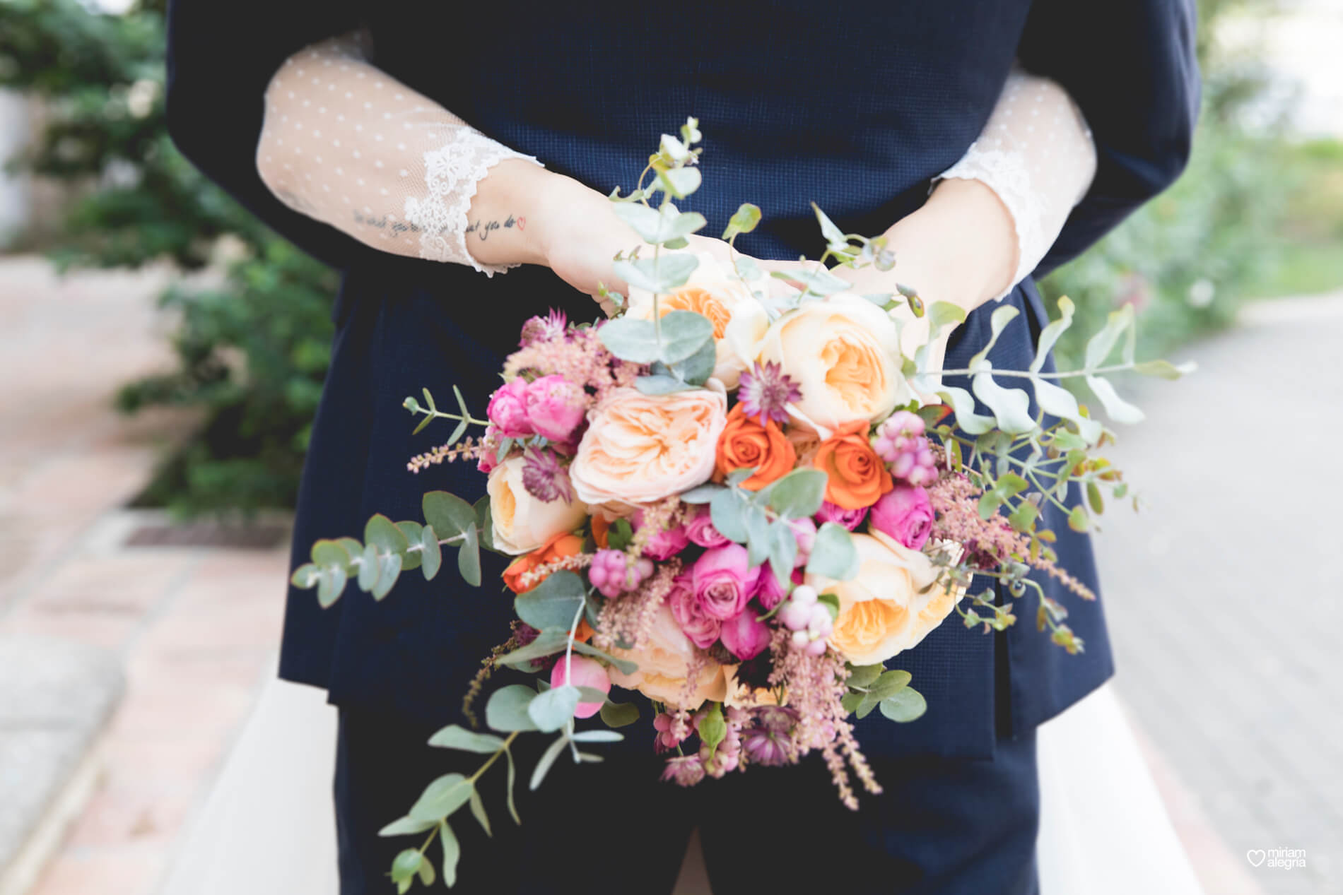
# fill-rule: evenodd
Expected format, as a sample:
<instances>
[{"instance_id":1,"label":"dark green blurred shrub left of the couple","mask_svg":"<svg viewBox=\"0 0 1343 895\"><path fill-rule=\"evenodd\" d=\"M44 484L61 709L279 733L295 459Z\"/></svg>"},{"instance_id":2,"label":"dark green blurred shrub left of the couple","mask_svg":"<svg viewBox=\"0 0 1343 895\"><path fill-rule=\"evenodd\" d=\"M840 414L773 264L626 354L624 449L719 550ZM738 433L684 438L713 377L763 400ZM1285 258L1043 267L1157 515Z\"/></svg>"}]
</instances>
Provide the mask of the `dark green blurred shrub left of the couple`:
<instances>
[{"instance_id":1,"label":"dark green blurred shrub left of the couple","mask_svg":"<svg viewBox=\"0 0 1343 895\"><path fill-rule=\"evenodd\" d=\"M133 413L193 407L201 425L165 458L140 503L181 514L291 507L330 356L336 275L261 225L173 148L164 122L163 3L102 15L77 0L0 0L0 85L40 97L44 130L12 164L71 185L48 255L121 267L210 263L224 276L176 284L177 368L125 385ZM195 282L195 280L193 280Z\"/></svg>"}]
</instances>

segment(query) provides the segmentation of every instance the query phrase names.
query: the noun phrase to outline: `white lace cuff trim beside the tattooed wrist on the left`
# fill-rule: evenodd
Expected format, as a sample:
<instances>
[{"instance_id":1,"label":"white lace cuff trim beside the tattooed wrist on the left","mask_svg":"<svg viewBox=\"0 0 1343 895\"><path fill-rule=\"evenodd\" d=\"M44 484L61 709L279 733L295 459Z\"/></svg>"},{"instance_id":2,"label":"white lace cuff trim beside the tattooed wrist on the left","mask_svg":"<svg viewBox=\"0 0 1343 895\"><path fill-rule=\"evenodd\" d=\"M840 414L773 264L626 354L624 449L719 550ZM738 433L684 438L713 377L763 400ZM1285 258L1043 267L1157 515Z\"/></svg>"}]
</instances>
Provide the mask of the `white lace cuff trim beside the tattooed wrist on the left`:
<instances>
[{"instance_id":1,"label":"white lace cuff trim beside the tattooed wrist on the left","mask_svg":"<svg viewBox=\"0 0 1343 895\"><path fill-rule=\"evenodd\" d=\"M486 276L502 274L517 264L481 264L466 248L466 213L479 181L505 158L525 158L478 130L462 127L443 146L424 153L424 199L406 199L406 220L420 231L419 256L435 262L470 264Z\"/></svg>"}]
</instances>

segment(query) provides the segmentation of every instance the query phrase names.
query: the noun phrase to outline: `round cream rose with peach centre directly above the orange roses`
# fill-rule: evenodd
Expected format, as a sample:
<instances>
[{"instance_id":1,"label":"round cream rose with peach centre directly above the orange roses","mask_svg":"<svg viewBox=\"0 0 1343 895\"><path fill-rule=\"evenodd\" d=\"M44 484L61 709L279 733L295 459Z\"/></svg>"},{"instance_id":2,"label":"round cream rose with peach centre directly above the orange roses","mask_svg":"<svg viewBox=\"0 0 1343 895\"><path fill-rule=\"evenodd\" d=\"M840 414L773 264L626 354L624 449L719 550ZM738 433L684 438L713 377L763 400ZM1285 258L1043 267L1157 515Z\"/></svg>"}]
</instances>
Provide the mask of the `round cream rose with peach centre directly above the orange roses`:
<instances>
[{"instance_id":1,"label":"round cream rose with peach centre directly above the orange roses","mask_svg":"<svg viewBox=\"0 0 1343 895\"><path fill-rule=\"evenodd\" d=\"M884 310L841 293L803 302L770 327L761 361L783 365L802 388L799 423L837 429L876 420L913 397L900 373L900 334Z\"/></svg>"}]
</instances>

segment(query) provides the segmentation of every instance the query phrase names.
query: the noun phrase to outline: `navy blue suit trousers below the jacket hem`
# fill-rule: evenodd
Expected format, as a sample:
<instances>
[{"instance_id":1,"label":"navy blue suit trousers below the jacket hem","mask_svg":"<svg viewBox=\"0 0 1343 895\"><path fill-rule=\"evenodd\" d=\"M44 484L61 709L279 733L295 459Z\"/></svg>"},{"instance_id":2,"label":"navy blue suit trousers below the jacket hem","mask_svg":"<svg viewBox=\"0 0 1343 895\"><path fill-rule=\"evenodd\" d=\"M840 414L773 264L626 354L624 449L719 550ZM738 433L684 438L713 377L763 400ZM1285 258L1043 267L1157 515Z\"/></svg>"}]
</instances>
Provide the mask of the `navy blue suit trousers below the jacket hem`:
<instances>
[{"instance_id":1,"label":"navy blue suit trousers below the jacket hem","mask_svg":"<svg viewBox=\"0 0 1343 895\"><path fill-rule=\"evenodd\" d=\"M475 770L481 755L430 749L431 729L357 708L340 713L336 816L341 895L391 891L387 870L422 837L381 839L426 782ZM540 738L535 738L540 741ZM846 895L1037 895L1039 790L1035 738L998 743L991 759L877 758L884 792L861 810L839 804L818 757L800 768L753 768L693 789L658 782L651 737L607 750L602 765L560 757L537 793L525 781L543 742L520 739L518 813L504 813L504 769L481 778L493 837L467 812L454 892L539 895L568 867L573 891L658 895L676 883L700 828L713 891ZM614 751L614 754L610 754ZM595 804L610 805L598 808ZM637 812L637 816L634 816ZM788 844L795 843L790 848ZM438 859L438 845L428 849ZM600 872L591 872L599 861ZM582 883L579 883L582 876Z\"/></svg>"}]
</instances>

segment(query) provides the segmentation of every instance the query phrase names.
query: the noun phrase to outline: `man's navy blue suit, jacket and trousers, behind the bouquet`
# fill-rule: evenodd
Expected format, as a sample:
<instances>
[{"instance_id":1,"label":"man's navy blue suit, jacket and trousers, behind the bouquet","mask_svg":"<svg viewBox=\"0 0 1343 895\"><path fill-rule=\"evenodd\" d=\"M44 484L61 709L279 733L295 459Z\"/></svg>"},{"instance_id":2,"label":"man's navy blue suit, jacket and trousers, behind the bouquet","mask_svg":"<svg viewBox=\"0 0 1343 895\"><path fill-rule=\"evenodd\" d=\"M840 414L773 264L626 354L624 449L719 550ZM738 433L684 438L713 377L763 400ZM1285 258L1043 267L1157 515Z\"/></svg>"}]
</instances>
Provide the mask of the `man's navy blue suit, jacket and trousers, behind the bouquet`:
<instances>
[{"instance_id":1,"label":"man's navy blue suit, jacket and trousers, behind the bouquet","mask_svg":"<svg viewBox=\"0 0 1343 895\"><path fill-rule=\"evenodd\" d=\"M316 538L359 534L373 513L419 518L424 490L467 499L483 494L483 476L471 466L441 466L418 476L406 471L410 456L446 432L430 427L412 436L402 400L423 385L446 390L455 382L481 411L524 319L549 306L579 319L598 313L548 270L486 279L461 266L387 255L290 211L267 192L254 168L266 82L299 47L356 27L368 28L375 64L488 136L603 192L630 188L658 134L697 115L705 187L684 207L704 212L712 232L740 203L759 204L764 220L739 247L760 258L819 254L810 201L842 229L865 233L916 209L931 178L980 133L1019 59L1072 94L1099 152L1093 185L1035 271L1042 275L1178 176L1199 93L1191 0L905 1L846 17L799 0L669 7L176 0L169 8L168 118L177 145L275 229L344 271L333 306L332 368L299 494L295 565ZM678 34L686 38L673 40ZM1023 313L990 357L997 368L1022 369L1048 317L1029 279L1005 301ZM984 344L991 311L976 310L959 329L950 365L964 366ZM1060 562L1099 590L1085 535L1072 533L1053 510L1045 517L1060 535ZM427 780L415 739L459 719L458 700L481 656L508 636L510 601L490 577L501 568L496 561L486 569L479 590L451 576L431 584L406 576L381 604L353 588L326 611L310 590L289 594L281 674L325 687L342 707L337 796L351 892L365 891L351 882L365 870L369 880L385 871L377 861L364 868L365 857L381 856L368 840L369 828L404 810ZM1113 668L1100 604L1082 604L1050 580L1041 584L1069 607L1069 624L1086 644L1082 655L1068 656L1037 635L1033 605L1005 635L947 624L897 660L927 695L927 715L897 726L874 714L860 723L865 751L901 781L888 786L880 806L860 814L868 832L847 840L865 837L864 853L877 861L869 864L873 891L1031 891L1033 872L1023 861L1034 831L1026 820L1035 804L1034 727ZM575 785L607 785L635 766L638 776L654 773L643 757L649 739L633 739L638 755L608 765L602 784L594 782L600 774L584 769L587 782ZM389 770L369 770L393 754L404 770L399 784ZM976 798L995 792L976 777L986 766L998 769L1003 789L980 804ZM361 782L376 774L377 786ZM770 774L744 777L756 780L701 788L714 794L693 798L745 798L768 810L779 785L757 782ZM810 782L795 778L786 792L799 805L833 800L823 780ZM980 796L967 794L970 789ZM673 802L698 805L686 810L702 825L706 802L669 792L654 789L646 798L661 800L667 817L681 817ZM944 812L940 837L924 841L908 828L908 814L933 804L970 814ZM982 810L971 810L975 805ZM1021 810L1014 813L1013 805ZM975 833L971 817L988 819L987 825ZM1010 827L1013 819L1029 833L1025 840L994 833L994 824ZM847 829L842 820L829 828ZM740 837L740 829L733 835ZM983 847L968 848L979 835ZM713 851L708 836L705 844ZM624 849L641 859L631 868L642 868L645 878L662 860L650 848L645 841ZM958 882L945 870L990 872L987 856L995 849L1015 855L1015 870L976 879L998 882L975 888L966 882L971 878ZM674 874L678 852L667 853ZM720 892L736 891L720 880L732 880L739 863L710 855L709 864ZM799 879L798 867L791 870L782 878L786 886ZM749 879L766 879L761 872L753 865ZM544 891L525 879L514 874L516 891ZM490 891L514 891L500 884L490 880ZM659 887L650 882L637 891Z\"/></svg>"}]
</instances>

